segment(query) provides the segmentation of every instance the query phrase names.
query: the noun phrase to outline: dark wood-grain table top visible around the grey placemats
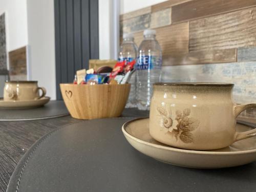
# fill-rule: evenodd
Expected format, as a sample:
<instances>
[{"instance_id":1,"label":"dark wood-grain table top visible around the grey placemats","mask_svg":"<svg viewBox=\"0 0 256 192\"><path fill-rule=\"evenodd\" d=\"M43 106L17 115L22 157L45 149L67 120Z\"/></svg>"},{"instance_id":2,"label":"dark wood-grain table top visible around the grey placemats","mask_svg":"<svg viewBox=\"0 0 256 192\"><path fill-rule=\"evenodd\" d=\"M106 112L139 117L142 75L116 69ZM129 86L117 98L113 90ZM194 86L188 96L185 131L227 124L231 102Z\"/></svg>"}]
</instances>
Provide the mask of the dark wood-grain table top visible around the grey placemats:
<instances>
[{"instance_id":1,"label":"dark wood-grain table top visible around the grey placemats","mask_svg":"<svg viewBox=\"0 0 256 192\"><path fill-rule=\"evenodd\" d=\"M148 114L148 111L125 109L122 116L145 117ZM255 123L255 111L244 113L239 119ZM57 127L81 121L65 116L45 120L0 122L0 191L6 191L17 163L39 138Z\"/></svg>"}]
</instances>

